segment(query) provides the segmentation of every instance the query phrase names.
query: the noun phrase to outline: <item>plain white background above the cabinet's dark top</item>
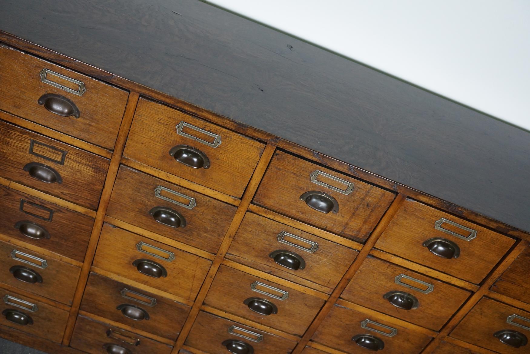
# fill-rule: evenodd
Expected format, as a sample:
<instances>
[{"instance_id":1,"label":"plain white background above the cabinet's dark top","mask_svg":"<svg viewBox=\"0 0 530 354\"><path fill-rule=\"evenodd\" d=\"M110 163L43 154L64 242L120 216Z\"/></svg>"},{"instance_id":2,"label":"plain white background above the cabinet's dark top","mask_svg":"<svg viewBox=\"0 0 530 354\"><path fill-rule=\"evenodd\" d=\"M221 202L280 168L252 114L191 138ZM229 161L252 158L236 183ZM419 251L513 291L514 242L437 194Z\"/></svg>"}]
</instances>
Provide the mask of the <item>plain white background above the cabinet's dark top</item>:
<instances>
[{"instance_id":1,"label":"plain white background above the cabinet's dark top","mask_svg":"<svg viewBox=\"0 0 530 354\"><path fill-rule=\"evenodd\" d=\"M530 130L528 0L209 0Z\"/></svg>"}]
</instances>

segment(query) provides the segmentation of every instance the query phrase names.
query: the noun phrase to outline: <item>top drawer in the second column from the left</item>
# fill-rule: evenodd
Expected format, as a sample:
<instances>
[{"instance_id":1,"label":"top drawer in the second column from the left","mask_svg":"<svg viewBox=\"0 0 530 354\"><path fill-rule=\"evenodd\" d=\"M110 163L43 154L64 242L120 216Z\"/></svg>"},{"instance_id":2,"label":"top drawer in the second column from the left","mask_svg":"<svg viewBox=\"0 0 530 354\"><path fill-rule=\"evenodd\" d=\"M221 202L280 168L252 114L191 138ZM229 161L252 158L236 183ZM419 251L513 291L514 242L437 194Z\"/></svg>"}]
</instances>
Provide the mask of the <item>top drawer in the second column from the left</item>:
<instances>
[{"instance_id":1,"label":"top drawer in the second column from the left","mask_svg":"<svg viewBox=\"0 0 530 354\"><path fill-rule=\"evenodd\" d=\"M174 147L177 152L170 155ZM233 131L163 104L140 99L123 155L240 198L263 148L258 141ZM191 160L201 167L184 164ZM205 166L209 167L205 169Z\"/></svg>"}]
</instances>

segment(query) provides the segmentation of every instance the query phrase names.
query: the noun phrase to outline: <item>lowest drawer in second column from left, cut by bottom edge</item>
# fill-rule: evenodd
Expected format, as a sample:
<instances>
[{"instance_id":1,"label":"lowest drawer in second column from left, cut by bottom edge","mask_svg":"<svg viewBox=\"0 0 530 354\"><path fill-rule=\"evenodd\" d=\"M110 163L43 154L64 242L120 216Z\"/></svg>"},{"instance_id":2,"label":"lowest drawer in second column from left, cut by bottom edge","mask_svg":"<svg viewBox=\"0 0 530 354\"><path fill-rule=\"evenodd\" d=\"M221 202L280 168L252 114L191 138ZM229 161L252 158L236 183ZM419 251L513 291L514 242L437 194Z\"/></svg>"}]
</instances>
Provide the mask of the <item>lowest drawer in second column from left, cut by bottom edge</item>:
<instances>
[{"instance_id":1,"label":"lowest drawer in second column from left, cut by bottom edge","mask_svg":"<svg viewBox=\"0 0 530 354\"><path fill-rule=\"evenodd\" d=\"M85 316L77 316L70 347L91 354L170 354L173 348Z\"/></svg>"}]
</instances>

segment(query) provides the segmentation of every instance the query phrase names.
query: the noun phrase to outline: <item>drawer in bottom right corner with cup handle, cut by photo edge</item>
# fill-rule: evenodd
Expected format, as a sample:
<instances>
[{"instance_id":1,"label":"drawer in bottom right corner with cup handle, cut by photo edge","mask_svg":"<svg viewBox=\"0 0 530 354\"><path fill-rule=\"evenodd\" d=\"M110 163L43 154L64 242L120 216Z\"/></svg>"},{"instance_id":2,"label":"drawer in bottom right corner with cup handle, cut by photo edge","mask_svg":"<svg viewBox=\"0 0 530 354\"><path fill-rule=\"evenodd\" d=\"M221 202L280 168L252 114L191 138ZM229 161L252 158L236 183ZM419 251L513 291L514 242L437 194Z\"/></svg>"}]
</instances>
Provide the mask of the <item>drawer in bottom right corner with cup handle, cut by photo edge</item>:
<instances>
[{"instance_id":1,"label":"drawer in bottom right corner with cup handle, cut by photo edge","mask_svg":"<svg viewBox=\"0 0 530 354\"><path fill-rule=\"evenodd\" d=\"M503 354L527 353L530 313L484 297L451 337Z\"/></svg>"}]
</instances>

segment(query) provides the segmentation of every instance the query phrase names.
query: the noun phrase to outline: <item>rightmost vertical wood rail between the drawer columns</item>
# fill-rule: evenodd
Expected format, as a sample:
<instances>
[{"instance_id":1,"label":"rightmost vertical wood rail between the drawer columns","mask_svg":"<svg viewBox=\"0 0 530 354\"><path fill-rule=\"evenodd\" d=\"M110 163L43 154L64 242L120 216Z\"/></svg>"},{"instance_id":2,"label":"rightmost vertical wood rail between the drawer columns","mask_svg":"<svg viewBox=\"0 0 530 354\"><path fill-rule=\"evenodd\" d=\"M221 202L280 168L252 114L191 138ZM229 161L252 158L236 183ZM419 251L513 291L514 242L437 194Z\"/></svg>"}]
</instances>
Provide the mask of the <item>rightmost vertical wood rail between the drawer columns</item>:
<instances>
[{"instance_id":1,"label":"rightmost vertical wood rail between the drawer columns","mask_svg":"<svg viewBox=\"0 0 530 354\"><path fill-rule=\"evenodd\" d=\"M476 292L467 299L467 301L464 303L464 305L456 312L456 314L445 324L445 326L440 330L438 335L423 349L421 354L430 354L432 351L434 351L440 344L441 341L443 341L449 333L451 333L458 323L463 320L463 318L471 311L471 309L480 301L480 299L488 294L488 291L490 287L493 285L493 283L504 273L508 267L510 267L511 263L513 263L519 254L521 254L526 246L528 245L528 241L522 240L520 241L513 250L511 250L510 253L505 257L504 260L502 260L499 265L497 265L497 268L495 268L490 275L486 278L486 280L483 282L483 284L480 286Z\"/></svg>"}]
</instances>

